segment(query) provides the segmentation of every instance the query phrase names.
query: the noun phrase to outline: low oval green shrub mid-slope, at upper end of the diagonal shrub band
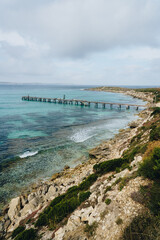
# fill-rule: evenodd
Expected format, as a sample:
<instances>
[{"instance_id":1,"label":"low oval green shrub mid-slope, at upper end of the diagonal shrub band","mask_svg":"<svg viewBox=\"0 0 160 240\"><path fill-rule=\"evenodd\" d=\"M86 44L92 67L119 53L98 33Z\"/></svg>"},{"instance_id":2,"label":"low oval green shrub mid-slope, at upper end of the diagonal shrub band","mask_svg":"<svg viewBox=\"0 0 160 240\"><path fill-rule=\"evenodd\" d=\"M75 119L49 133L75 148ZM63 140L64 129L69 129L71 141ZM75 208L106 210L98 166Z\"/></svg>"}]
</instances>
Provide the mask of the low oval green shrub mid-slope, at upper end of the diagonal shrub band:
<instances>
[{"instance_id":1,"label":"low oval green shrub mid-slope, at upper end of the diagonal shrub band","mask_svg":"<svg viewBox=\"0 0 160 240\"><path fill-rule=\"evenodd\" d=\"M93 166L94 171L98 174L104 174L107 172L115 171L116 168L121 167L121 165L125 162L123 158L116 158L113 160L108 160L99 164L95 164Z\"/></svg>"}]
</instances>

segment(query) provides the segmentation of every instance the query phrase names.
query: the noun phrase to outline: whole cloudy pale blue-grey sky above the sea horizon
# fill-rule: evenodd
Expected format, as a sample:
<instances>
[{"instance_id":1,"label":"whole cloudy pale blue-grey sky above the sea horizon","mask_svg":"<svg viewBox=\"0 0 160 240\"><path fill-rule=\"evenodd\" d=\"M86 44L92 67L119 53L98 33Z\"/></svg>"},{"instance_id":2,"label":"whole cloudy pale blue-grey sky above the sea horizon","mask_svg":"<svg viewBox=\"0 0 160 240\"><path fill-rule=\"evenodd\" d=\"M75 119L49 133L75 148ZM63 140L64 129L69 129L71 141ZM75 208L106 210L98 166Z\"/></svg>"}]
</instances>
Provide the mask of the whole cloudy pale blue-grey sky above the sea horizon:
<instances>
[{"instance_id":1,"label":"whole cloudy pale blue-grey sky above the sea horizon","mask_svg":"<svg viewBox=\"0 0 160 240\"><path fill-rule=\"evenodd\" d=\"M0 0L0 82L160 85L160 0Z\"/></svg>"}]
</instances>

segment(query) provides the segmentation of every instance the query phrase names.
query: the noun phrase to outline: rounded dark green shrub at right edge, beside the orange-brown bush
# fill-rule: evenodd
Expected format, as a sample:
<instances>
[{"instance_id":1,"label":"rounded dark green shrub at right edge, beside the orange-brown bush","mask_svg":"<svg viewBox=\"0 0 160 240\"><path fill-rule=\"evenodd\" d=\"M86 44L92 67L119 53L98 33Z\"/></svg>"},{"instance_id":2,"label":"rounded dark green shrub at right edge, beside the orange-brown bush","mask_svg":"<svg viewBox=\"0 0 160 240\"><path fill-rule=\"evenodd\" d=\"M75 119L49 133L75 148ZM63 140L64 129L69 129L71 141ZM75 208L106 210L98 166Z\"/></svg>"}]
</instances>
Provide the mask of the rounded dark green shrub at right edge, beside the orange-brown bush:
<instances>
[{"instance_id":1,"label":"rounded dark green shrub at right edge, beside the orange-brown bush","mask_svg":"<svg viewBox=\"0 0 160 240\"><path fill-rule=\"evenodd\" d=\"M160 148L154 148L153 153L143 161L139 173L150 179L160 178Z\"/></svg>"}]
</instances>

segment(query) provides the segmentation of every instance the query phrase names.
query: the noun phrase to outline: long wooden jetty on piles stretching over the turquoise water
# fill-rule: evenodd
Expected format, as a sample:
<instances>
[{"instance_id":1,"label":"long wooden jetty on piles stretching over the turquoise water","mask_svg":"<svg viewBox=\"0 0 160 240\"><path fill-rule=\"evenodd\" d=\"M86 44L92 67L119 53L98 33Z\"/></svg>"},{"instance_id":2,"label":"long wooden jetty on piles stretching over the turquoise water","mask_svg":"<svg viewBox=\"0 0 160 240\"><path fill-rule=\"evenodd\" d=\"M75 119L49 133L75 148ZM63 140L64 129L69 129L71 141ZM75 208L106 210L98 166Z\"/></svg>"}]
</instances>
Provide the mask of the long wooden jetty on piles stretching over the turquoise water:
<instances>
[{"instance_id":1,"label":"long wooden jetty on piles stretching over the turquoise water","mask_svg":"<svg viewBox=\"0 0 160 240\"><path fill-rule=\"evenodd\" d=\"M44 97L30 97L30 96L23 96L22 100L35 101L35 102L60 103L60 104L75 104L75 105L80 104L81 106L90 106L90 104L95 104L95 107L98 107L98 105L101 105L103 108L105 108L106 105L110 105L110 108L112 108L113 105L117 105L119 108L121 108L122 106L125 106L127 109L130 109L130 107L136 107L136 110L138 110L138 108L140 107L142 108L145 107L145 105L128 104L128 103L96 102L96 101L78 100L78 99L44 98Z\"/></svg>"}]
</instances>

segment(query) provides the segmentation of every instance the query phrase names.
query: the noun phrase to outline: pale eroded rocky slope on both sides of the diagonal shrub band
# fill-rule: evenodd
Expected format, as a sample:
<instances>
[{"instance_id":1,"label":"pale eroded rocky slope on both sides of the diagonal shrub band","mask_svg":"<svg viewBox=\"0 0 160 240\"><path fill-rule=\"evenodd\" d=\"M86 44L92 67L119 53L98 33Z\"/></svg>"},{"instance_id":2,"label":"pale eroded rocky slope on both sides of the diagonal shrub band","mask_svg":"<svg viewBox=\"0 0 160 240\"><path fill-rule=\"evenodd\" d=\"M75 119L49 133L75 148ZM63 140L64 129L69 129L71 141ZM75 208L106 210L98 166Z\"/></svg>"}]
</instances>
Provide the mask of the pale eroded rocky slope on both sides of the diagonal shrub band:
<instances>
[{"instance_id":1,"label":"pale eroded rocky slope on both sides of the diagonal shrub band","mask_svg":"<svg viewBox=\"0 0 160 240\"><path fill-rule=\"evenodd\" d=\"M26 229L34 228L33 223L49 203L92 174L94 164L121 157L133 137L139 133L139 128L151 120L150 113L149 110L144 110L141 112L142 118L129 128L121 130L113 139L92 149L88 162L74 169L66 167L50 181L35 184L29 193L12 199L1 221L0 231L5 239L10 239L12 231L19 225L25 225ZM145 141L146 133L143 142ZM149 180L136 175L141 161L142 154L138 153L128 168L99 176L89 189L90 197L68 215L62 224L52 230L47 226L38 228L40 239L119 239L132 219L146 211L134 198L139 186L149 183Z\"/></svg>"}]
</instances>

